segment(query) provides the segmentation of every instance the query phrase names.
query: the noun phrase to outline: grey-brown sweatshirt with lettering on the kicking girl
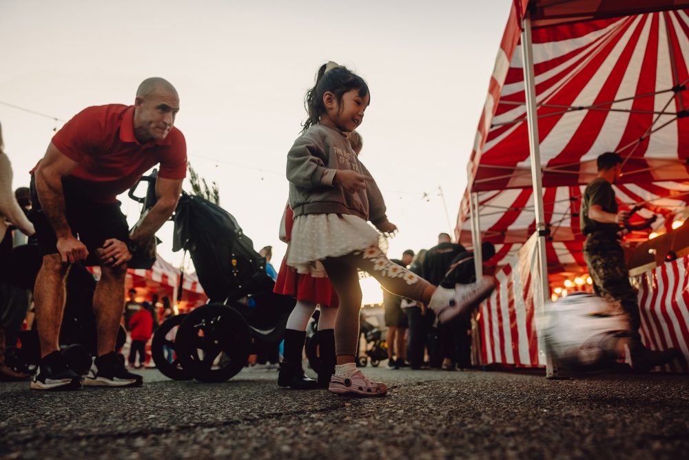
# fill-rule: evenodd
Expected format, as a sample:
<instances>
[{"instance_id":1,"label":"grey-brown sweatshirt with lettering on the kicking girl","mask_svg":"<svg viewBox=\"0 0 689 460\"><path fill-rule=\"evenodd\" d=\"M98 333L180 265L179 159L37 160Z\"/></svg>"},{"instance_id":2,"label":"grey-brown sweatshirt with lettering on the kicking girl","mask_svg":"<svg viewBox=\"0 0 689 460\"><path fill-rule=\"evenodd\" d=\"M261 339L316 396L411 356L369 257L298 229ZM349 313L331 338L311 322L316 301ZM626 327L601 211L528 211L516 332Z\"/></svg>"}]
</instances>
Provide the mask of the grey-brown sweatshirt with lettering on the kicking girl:
<instances>
[{"instance_id":1,"label":"grey-brown sweatshirt with lettering on the kicking girl","mask_svg":"<svg viewBox=\"0 0 689 460\"><path fill-rule=\"evenodd\" d=\"M355 194L333 185L338 170L368 176L365 190ZM311 126L287 154L289 206L302 214L351 214L373 225L387 221L385 203L371 173L351 150L344 133L324 125Z\"/></svg>"}]
</instances>

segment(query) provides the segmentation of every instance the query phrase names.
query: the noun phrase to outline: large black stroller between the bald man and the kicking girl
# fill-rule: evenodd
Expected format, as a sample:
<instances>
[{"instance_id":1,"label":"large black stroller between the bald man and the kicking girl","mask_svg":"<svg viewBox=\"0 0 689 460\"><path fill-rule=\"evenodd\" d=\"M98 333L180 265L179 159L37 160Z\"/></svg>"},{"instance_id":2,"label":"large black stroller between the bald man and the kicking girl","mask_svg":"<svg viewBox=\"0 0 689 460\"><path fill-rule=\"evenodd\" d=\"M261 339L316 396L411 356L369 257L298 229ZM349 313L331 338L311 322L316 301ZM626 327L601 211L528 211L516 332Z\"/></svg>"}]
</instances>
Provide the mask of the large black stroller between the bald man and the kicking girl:
<instances>
[{"instance_id":1,"label":"large black stroller between the bald man and the kicking girl","mask_svg":"<svg viewBox=\"0 0 689 460\"><path fill-rule=\"evenodd\" d=\"M173 220L172 249L189 251L210 300L161 324L152 357L172 379L225 381L252 351L282 340L295 301L273 292L265 258L220 206L183 192Z\"/></svg>"}]
</instances>

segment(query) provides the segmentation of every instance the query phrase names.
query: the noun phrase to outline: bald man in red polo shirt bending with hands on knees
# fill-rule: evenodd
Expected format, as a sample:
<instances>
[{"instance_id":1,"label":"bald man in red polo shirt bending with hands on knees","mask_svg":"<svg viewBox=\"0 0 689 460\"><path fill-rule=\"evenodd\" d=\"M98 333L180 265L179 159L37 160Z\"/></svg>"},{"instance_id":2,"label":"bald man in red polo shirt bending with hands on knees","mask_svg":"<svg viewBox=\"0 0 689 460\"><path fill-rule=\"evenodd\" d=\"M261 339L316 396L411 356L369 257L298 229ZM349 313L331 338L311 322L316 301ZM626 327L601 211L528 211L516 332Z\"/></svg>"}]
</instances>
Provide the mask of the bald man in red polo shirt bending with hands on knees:
<instances>
[{"instance_id":1,"label":"bald man in red polo shirt bending with hands on knees","mask_svg":"<svg viewBox=\"0 0 689 460\"><path fill-rule=\"evenodd\" d=\"M36 228L43 265L34 298L41 362L31 382L36 390L81 388L82 377L59 352L70 266L100 266L93 297L98 350L84 386L141 386L140 375L125 370L115 350L122 317L127 263L169 219L177 206L187 170L183 134L174 128L179 110L175 88L164 79L146 79L133 106L89 107L57 132L34 168L30 219ZM158 201L130 234L117 195L160 165Z\"/></svg>"}]
</instances>

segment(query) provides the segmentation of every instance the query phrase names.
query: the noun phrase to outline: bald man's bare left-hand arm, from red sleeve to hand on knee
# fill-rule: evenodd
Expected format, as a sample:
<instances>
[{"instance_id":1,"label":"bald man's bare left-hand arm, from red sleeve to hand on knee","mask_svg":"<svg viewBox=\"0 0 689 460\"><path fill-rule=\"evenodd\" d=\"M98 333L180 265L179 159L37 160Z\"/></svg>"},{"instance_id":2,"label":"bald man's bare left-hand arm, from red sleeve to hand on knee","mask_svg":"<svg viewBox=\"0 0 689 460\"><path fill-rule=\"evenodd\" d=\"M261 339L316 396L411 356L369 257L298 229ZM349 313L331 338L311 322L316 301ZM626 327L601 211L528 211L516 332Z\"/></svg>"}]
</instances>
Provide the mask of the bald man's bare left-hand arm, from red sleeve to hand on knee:
<instances>
[{"instance_id":1,"label":"bald man's bare left-hand arm, from red sleeve to hand on knee","mask_svg":"<svg viewBox=\"0 0 689 460\"><path fill-rule=\"evenodd\" d=\"M65 213L65 194L62 178L76 168L76 161L66 157L51 142L39 168L34 172L36 191L52 230L57 237L57 250L63 262L74 263L86 259L88 249L72 234Z\"/></svg>"}]
</instances>

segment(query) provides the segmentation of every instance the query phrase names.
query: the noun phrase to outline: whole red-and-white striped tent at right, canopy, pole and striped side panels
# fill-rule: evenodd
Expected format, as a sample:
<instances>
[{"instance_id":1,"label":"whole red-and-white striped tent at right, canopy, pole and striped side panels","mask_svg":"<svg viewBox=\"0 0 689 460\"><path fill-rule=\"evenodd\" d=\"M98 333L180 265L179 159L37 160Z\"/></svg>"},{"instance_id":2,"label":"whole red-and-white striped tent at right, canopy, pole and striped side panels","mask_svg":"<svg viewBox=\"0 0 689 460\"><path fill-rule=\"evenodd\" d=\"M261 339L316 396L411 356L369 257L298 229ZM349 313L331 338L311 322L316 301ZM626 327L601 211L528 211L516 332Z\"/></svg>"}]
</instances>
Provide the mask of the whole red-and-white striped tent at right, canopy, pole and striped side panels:
<instances>
[{"instance_id":1,"label":"whole red-and-white striped tent at right, canopy, pole and striped side panels","mask_svg":"<svg viewBox=\"0 0 689 460\"><path fill-rule=\"evenodd\" d=\"M624 159L617 198L646 206L637 219L658 214L654 230L686 210L688 83L689 0L513 1L455 228L465 246L496 245L498 288L480 310L484 363L546 364L535 312L553 277L586 272L579 203L599 154ZM642 327L647 346L683 351L686 372L688 299L669 294L686 292L686 258L668 266L655 270L667 283L639 284L653 290L640 290Z\"/></svg>"}]
</instances>

